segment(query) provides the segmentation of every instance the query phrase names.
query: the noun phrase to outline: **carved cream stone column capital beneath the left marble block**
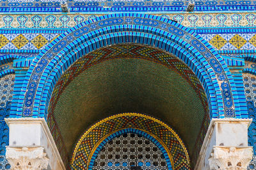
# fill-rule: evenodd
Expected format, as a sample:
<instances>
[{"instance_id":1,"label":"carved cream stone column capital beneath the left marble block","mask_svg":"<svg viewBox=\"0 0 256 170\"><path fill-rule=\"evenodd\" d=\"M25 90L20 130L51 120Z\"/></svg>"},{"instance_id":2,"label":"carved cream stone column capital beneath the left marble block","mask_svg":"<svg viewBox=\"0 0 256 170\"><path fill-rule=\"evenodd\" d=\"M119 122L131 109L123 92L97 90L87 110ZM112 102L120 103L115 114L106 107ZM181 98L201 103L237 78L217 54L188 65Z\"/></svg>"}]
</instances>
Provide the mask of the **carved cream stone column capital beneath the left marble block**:
<instances>
[{"instance_id":1,"label":"carved cream stone column capital beneath the left marble block","mask_svg":"<svg viewBox=\"0 0 256 170\"><path fill-rule=\"evenodd\" d=\"M49 158L44 153L44 148L6 148L6 159L11 169L47 169Z\"/></svg>"}]
</instances>

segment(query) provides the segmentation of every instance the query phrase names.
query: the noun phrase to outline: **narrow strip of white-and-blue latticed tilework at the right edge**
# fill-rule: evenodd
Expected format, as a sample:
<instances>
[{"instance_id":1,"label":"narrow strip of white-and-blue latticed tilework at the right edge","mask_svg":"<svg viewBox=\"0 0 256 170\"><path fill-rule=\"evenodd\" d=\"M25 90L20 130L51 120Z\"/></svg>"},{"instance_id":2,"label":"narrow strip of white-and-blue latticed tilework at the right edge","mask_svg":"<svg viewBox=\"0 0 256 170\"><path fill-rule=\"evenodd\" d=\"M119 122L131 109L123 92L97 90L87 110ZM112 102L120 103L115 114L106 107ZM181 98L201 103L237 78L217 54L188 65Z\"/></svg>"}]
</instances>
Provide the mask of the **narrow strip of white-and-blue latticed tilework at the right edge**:
<instances>
[{"instance_id":1,"label":"narrow strip of white-and-blue latticed tilework at the right edge","mask_svg":"<svg viewBox=\"0 0 256 170\"><path fill-rule=\"evenodd\" d=\"M248 145L253 146L254 154L248 169L256 169L256 76L244 73L243 81L249 118L253 119L248 128Z\"/></svg>"}]
</instances>

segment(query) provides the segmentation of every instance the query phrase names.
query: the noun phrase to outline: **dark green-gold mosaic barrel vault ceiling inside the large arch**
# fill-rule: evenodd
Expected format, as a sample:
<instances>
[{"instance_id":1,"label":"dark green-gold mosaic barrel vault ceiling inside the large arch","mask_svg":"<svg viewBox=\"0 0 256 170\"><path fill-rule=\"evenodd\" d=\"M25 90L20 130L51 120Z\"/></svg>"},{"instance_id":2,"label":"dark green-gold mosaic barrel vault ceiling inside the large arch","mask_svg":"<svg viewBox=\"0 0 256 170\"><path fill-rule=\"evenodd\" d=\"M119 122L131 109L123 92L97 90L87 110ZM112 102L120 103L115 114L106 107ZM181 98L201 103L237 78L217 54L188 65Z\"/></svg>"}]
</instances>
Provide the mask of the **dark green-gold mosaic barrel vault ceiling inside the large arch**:
<instances>
[{"instance_id":1,"label":"dark green-gold mosaic barrel vault ceiling inside the large arch","mask_svg":"<svg viewBox=\"0 0 256 170\"><path fill-rule=\"evenodd\" d=\"M193 153L206 101L198 79L175 56L153 47L114 45L78 59L63 73L52 93L49 118L54 117L68 155L86 128L122 112L164 121Z\"/></svg>"}]
</instances>

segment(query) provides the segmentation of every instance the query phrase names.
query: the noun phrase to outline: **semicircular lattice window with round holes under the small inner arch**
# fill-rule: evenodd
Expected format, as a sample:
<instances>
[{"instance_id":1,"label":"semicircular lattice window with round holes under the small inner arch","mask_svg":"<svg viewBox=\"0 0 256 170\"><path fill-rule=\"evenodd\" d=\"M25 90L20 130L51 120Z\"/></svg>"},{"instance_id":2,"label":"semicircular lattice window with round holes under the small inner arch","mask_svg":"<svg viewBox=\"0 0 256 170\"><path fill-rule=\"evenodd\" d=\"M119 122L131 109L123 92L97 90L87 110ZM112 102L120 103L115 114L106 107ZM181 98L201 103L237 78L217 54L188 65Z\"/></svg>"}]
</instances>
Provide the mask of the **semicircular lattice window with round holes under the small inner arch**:
<instances>
[{"instance_id":1,"label":"semicircular lattice window with round holes under the small inner arch","mask_svg":"<svg viewBox=\"0 0 256 170\"><path fill-rule=\"evenodd\" d=\"M168 169L163 153L149 139L133 133L120 135L100 150L93 164L96 169Z\"/></svg>"}]
</instances>

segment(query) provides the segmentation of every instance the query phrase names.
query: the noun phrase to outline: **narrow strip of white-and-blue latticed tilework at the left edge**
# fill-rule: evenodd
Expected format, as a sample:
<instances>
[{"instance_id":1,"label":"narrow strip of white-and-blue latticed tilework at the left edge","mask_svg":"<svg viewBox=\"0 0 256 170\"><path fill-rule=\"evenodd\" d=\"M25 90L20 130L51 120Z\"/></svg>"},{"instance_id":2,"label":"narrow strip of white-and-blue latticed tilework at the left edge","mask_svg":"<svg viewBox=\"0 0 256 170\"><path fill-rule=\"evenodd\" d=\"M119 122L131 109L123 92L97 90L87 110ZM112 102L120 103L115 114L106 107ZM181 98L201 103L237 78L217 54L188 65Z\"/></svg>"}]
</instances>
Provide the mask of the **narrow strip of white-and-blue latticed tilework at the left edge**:
<instances>
[{"instance_id":1,"label":"narrow strip of white-and-blue latticed tilework at the left edge","mask_svg":"<svg viewBox=\"0 0 256 170\"><path fill-rule=\"evenodd\" d=\"M9 145L9 128L4 118L10 115L14 79L14 74L0 79L0 169L10 169L10 164L5 158L5 146Z\"/></svg>"}]
</instances>

